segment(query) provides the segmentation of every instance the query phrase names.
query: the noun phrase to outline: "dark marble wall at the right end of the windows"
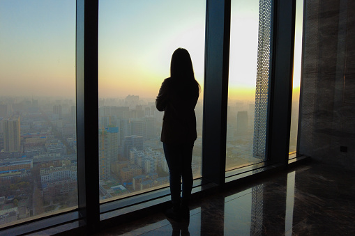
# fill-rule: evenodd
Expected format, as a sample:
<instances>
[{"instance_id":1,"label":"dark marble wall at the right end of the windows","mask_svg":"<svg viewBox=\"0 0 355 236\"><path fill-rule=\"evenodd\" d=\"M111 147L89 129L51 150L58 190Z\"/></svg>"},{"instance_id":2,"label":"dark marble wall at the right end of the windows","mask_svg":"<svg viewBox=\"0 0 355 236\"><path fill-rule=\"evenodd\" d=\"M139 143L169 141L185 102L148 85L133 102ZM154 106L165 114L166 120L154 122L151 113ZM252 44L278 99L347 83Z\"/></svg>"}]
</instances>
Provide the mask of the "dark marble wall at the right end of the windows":
<instances>
[{"instance_id":1,"label":"dark marble wall at the right end of the windows","mask_svg":"<svg viewBox=\"0 0 355 236\"><path fill-rule=\"evenodd\" d=\"M299 153L355 169L355 1L306 0Z\"/></svg>"}]
</instances>

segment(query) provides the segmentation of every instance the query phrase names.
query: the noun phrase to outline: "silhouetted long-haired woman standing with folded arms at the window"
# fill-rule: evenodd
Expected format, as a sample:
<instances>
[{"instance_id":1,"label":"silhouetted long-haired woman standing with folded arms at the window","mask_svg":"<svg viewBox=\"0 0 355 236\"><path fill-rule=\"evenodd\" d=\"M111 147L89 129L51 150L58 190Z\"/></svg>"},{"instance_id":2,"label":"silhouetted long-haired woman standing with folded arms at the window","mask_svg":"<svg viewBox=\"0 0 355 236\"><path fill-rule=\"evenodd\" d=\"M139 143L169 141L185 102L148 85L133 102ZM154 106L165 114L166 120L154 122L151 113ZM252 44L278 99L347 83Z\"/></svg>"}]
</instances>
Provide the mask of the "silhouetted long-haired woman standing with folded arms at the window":
<instances>
[{"instance_id":1,"label":"silhouetted long-haired woman standing with folded arms at the window","mask_svg":"<svg viewBox=\"0 0 355 236\"><path fill-rule=\"evenodd\" d=\"M200 86L195 79L190 54L178 48L172 54L170 77L163 81L156 108L164 111L160 141L169 166L172 208L165 214L176 221L189 217L192 189L192 148L197 139L195 106ZM182 178L182 196L181 192Z\"/></svg>"}]
</instances>

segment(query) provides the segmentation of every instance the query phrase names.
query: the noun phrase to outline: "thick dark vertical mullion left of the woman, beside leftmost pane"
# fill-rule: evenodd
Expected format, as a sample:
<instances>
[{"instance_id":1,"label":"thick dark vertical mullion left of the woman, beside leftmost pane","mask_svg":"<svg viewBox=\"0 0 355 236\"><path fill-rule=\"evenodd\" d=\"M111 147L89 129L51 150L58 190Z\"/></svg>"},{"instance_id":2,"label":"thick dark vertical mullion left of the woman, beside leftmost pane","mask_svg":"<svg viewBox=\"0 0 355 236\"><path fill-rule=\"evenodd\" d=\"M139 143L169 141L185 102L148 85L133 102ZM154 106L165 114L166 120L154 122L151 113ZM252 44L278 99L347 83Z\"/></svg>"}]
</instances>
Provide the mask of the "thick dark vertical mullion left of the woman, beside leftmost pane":
<instances>
[{"instance_id":1,"label":"thick dark vertical mullion left of the woman, beside leftmost pane","mask_svg":"<svg viewBox=\"0 0 355 236\"><path fill-rule=\"evenodd\" d=\"M77 182L87 232L98 232L98 0L77 0Z\"/></svg>"}]
</instances>

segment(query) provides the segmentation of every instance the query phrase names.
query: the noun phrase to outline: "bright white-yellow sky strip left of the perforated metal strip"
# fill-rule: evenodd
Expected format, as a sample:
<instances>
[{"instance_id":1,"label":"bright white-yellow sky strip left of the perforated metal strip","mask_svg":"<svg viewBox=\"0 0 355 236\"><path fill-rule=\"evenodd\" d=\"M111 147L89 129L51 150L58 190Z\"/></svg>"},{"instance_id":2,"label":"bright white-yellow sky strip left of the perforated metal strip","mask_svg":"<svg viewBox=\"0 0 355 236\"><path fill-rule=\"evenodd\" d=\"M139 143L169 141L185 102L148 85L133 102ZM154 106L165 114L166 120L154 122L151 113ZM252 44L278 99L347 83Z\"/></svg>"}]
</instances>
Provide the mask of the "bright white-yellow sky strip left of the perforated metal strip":
<instances>
[{"instance_id":1,"label":"bright white-yellow sky strip left of the perforated metal strip","mask_svg":"<svg viewBox=\"0 0 355 236\"><path fill-rule=\"evenodd\" d=\"M255 100L259 0L232 1L228 97Z\"/></svg>"}]
</instances>

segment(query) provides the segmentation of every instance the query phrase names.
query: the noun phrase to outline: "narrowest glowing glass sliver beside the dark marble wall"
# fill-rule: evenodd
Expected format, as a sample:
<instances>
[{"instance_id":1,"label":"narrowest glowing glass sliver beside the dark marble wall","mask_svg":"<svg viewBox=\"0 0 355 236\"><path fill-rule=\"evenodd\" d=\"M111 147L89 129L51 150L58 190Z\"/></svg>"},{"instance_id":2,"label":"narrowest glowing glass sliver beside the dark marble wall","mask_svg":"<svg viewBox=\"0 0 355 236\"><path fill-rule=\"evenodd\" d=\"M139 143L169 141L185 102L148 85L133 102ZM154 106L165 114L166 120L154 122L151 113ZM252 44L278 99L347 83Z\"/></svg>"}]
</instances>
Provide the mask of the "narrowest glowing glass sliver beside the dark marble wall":
<instances>
[{"instance_id":1,"label":"narrowest glowing glass sliver beside the dark marble wall","mask_svg":"<svg viewBox=\"0 0 355 236\"><path fill-rule=\"evenodd\" d=\"M289 137L290 158L296 155L297 132L299 128L299 88L301 82L301 56L302 56L302 29L303 29L303 0L296 1L296 24L294 32L294 84L292 91L291 130Z\"/></svg>"}]
</instances>

